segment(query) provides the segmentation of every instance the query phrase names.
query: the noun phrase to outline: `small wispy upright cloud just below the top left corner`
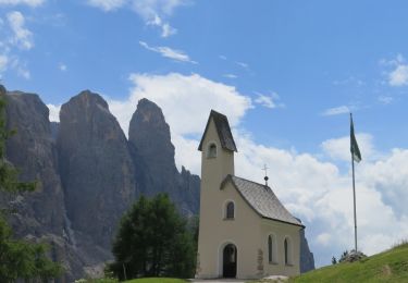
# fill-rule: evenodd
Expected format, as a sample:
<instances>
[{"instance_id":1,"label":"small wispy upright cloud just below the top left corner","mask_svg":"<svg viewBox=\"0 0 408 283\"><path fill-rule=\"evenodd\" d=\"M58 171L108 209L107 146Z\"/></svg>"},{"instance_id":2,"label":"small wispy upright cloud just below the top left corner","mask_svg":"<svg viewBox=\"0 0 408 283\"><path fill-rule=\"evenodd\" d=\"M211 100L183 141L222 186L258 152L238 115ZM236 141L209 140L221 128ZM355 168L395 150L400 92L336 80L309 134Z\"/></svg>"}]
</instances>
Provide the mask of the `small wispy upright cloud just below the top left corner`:
<instances>
[{"instance_id":1,"label":"small wispy upright cloud just below the top left corner","mask_svg":"<svg viewBox=\"0 0 408 283\"><path fill-rule=\"evenodd\" d=\"M24 15L18 11L13 11L8 13L7 19L13 32L12 44L22 49L32 49L34 47L33 34L25 27Z\"/></svg>"}]
</instances>

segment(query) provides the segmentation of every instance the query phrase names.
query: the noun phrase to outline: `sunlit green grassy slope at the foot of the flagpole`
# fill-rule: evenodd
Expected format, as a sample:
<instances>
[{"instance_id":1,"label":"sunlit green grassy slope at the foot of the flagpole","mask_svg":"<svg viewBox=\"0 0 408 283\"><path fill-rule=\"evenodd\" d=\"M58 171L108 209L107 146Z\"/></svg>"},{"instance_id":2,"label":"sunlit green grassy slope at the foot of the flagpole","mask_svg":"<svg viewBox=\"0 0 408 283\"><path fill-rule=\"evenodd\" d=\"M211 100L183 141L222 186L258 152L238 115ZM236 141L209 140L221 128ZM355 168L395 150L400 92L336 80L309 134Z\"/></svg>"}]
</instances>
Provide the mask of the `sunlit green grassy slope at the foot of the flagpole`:
<instances>
[{"instance_id":1,"label":"sunlit green grassy slope at the foot of the flagpole","mask_svg":"<svg viewBox=\"0 0 408 283\"><path fill-rule=\"evenodd\" d=\"M289 282L408 282L408 243L358 262L317 269Z\"/></svg>"}]
</instances>

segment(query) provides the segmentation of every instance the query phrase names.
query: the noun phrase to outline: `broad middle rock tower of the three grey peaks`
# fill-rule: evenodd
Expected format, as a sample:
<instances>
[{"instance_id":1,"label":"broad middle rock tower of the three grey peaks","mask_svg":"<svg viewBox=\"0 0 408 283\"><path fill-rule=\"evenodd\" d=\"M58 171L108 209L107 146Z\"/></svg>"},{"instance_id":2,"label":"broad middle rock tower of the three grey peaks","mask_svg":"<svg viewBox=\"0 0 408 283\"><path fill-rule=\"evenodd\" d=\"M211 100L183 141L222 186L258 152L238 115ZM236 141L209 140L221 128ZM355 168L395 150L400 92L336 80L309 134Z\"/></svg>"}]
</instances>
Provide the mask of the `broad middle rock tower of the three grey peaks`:
<instances>
[{"instance_id":1,"label":"broad middle rock tower of the three grey peaks","mask_svg":"<svg viewBox=\"0 0 408 283\"><path fill-rule=\"evenodd\" d=\"M57 137L60 174L72 229L110 249L123 212L135 199L127 140L108 103L88 90L61 107Z\"/></svg>"}]
</instances>

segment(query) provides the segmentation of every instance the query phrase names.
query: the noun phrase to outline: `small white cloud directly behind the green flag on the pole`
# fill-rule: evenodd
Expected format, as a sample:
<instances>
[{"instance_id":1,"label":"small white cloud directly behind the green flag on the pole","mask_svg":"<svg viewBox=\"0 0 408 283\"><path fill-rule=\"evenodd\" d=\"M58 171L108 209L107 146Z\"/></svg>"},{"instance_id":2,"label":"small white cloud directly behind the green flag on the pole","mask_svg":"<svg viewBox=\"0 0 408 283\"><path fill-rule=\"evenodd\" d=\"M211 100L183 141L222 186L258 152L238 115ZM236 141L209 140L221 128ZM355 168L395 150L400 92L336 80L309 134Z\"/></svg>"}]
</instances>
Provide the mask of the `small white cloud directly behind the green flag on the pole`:
<instances>
[{"instance_id":1,"label":"small white cloud directly behind the green flag on the pole","mask_svg":"<svg viewBox=\"0 0 408 283\"><path fill-rule=\"evenodd\" d=\"M379 158L380 153L375 152L373 137L370 134L356 135L358 147L363 159L373 160ZM350 137L331 138L321 144L323 152L333 160L350 161Z\"/></svg>"}]
</instances>

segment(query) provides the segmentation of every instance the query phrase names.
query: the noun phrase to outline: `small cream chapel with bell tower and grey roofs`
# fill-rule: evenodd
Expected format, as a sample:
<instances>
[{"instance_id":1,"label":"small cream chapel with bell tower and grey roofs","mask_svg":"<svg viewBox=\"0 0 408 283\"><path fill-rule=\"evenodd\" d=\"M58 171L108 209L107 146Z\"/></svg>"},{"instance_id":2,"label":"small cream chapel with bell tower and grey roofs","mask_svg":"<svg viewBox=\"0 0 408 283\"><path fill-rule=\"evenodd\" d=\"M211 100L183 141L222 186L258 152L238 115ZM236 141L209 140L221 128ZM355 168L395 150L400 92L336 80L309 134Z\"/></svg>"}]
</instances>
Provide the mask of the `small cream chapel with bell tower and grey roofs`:
<instances>
[{"instance_id":1,"label":"small cream chapel with bell tower and grey roofs","mask_svg":"<svg viewBox=\"0 0 408 283\"><path fill-rule=\"evenodd\" d=\"M265 184L234 174L227 118L211 110L201 151L196 278L258 279L300 273L300 230Z\"/></svg>"}]
</instances>

